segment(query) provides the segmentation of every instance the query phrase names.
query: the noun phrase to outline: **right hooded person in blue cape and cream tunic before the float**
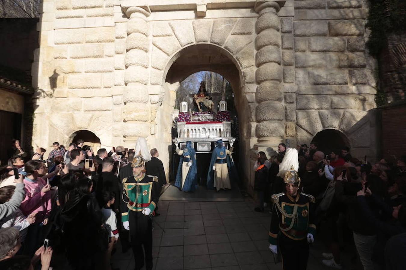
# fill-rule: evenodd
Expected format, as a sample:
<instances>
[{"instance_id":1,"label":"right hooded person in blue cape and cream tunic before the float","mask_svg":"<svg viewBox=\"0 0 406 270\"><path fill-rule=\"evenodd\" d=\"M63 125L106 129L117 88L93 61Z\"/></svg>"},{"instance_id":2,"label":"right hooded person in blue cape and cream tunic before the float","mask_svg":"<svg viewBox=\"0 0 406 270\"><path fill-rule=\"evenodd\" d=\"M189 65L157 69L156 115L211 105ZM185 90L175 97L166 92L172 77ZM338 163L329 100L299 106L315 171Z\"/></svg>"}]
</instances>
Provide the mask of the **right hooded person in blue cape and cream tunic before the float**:
<instances>
[{"instance_id":1,"label":"right hooded person in blue cape and cream tunic before the float","mask_svg":"<svg viewBox=\"0 0 406 270\"><path fill-rule=\"evenodd\" d=\"M230 149L232 151L232 140L230 141ZM220 189L231 189L230 178L238 181L238 174L235 169L232 152L226 149L223 141L216 141L216 147L213 149L212 159L210 161L209 172L207 173L207 188L217 191Z\"/></svg>"}]
</instances>

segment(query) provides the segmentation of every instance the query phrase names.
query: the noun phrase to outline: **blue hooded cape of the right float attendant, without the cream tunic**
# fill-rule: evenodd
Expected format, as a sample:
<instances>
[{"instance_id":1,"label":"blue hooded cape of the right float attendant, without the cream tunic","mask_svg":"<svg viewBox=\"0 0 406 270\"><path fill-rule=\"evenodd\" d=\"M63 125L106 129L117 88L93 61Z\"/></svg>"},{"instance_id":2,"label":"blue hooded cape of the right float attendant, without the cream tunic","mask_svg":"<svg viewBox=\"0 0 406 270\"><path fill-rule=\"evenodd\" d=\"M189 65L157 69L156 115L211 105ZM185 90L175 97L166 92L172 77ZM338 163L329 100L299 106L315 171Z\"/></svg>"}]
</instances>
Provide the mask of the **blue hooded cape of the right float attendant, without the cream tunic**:
<instances>
[{"instance_id":1,"label":"blue hooded cape of the right float attendant, without the cream tunic","mask_svg":"<svg viewBox=\"0 0 406 270\"><path fill-rule=\"evenodd\" d=\"M220 158L226 158L227 162L227 169L229 171L229 178L230 178L230 184L233 183L233 181L238 182L238 174L234 166L233 160L230 158L230 155L227 155L226 153L226 147L223 145L223 141L220 139L216 141L216 147L213 149L212 153L212 159L210 160L210 166L209 166L209 172L207 173L207 189L214 189L214 170L213 166L216 163L217 157Z\"/></svg>"}]
</instances>

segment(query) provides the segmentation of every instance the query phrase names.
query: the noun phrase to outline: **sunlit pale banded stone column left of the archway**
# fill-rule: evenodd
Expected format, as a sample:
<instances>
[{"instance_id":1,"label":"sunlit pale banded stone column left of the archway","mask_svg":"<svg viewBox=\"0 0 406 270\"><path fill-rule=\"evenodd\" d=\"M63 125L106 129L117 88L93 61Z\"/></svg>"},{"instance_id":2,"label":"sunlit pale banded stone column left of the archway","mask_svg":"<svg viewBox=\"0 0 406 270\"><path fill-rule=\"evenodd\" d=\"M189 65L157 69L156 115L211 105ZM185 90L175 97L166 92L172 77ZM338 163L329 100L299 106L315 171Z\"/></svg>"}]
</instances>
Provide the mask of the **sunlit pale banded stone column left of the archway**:
<instances>
[{"instance_id":1,"label":"sunlit pale banded stone column left of the archway","mask_svg":"<svg viewBox=\"0 0 406 270\"><path fill-rule=\"evenodd\" d=\"M122 10L129 18L125 53L125 91L123 94L123 136L134 140L150 135L149 25L148 7L130 6Z\"/></svg>"}]
</instances>

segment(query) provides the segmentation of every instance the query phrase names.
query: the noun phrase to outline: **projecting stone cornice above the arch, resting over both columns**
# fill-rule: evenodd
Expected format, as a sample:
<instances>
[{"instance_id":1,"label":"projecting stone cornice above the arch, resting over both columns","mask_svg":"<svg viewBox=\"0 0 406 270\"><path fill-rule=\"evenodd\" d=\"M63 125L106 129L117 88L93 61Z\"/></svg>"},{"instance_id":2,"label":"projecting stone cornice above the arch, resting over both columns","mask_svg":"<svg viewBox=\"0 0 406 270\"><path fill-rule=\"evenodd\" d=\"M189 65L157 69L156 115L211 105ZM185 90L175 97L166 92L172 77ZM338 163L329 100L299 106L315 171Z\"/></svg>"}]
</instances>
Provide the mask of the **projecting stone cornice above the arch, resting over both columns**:
<instances>
[{"instance_id":1,"label":"projecting stone cornice above the arch, resting over both columns","mask_svg":"<svg viewBox=\"0 0 406 270\"><path fill-rule=\"evenodd\" d=\"M255 8L263 6L270 7L273 4L279 5L279 9L285 4L286 0L268 1L268 0L121 0L120 5L123 11L133 6L142 7L148 11L179 11L196 10L198 5L205 5L207 9L231 9L231 8ZM263 9L263 8L261 8ZM278 10L279 10L278 9Z\"/></svg>"}]
</instances>

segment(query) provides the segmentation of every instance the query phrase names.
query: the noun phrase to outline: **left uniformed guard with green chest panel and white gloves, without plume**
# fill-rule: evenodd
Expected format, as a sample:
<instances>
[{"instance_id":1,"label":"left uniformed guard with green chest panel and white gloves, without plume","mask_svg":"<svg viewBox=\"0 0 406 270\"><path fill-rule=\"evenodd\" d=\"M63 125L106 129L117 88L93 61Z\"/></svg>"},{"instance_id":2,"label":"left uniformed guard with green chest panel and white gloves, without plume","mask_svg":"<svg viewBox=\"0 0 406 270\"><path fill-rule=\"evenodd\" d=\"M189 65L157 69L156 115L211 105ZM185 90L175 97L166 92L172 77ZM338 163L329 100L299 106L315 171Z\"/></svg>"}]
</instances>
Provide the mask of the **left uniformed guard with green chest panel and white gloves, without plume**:
<instances>
[{"instance_id":1,"label":"left uniformed guard with green chest panel and white gloves, without plume","mask_svg":"<svg viewBox=\"0 0 406 270\"><path fill-rule=\"evenodd\" d=\"M134 157L131 167L133 175L123 179L121 220L123 227L130 230L135 269L143 268L145 262L147 270L150 270L153 266L150 215L158 202L158 196L155 194L158 177L145 175L145 161L141 155ZM145 261L142 245L145 249Z\"/></svg>"}]
</instances>

